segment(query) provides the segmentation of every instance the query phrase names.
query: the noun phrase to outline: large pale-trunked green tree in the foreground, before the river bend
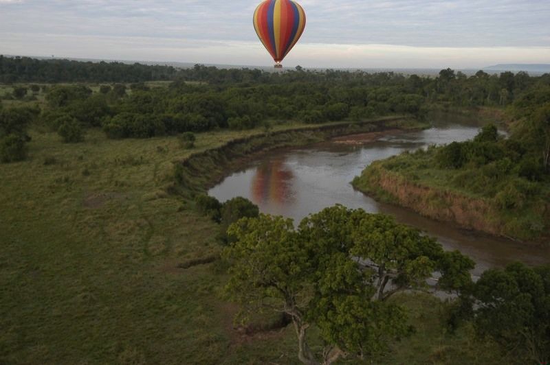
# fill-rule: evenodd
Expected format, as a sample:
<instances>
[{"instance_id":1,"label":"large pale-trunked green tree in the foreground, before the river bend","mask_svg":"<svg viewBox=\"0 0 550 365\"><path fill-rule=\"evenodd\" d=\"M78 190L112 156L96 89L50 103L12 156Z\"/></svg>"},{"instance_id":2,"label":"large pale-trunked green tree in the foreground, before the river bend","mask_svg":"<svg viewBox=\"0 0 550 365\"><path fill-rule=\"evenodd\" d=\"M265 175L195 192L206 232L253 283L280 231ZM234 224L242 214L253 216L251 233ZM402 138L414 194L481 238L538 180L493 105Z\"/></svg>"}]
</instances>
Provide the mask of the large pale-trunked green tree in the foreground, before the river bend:
<instances>
[{"instance_id":1,"label":"large pale-trunked green tree in the foreground, before the river bend","mask_svg":"<svg viewBox=\"0 0 550 365\"><path fill-rule=\"evenodd\" d=\"M460 289L473 268L459 252L443 252L391 217L342 206L310 215L297 229L292 220L260 215L228 233L235 242L223 252L230 263L226 290L244 314L270 310L292 318L304 364L379 353L410 331L405 310L388 298L426 289L434 270L441 270L441 287ZM320 354L308 345L311 325L320 330Z\"/></svg>"}]
</instances>

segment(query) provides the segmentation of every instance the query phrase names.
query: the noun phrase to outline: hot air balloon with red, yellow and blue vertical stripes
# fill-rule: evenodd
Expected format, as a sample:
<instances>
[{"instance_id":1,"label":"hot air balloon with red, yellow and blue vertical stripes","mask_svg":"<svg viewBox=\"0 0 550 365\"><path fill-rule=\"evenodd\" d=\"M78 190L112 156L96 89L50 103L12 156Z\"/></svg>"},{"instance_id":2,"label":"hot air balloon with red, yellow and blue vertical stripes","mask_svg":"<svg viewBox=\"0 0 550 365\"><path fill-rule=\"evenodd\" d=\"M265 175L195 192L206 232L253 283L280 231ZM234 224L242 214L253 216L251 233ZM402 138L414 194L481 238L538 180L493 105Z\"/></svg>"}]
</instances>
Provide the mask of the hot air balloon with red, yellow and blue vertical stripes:
<instances>
[{"instance_id":1,"label":"hot air balloon with red, yellow and blue vertical stripes","mask_svg":"<svg viewBox=\"0 0 550 365\"><path fill-rule=\"evenodd\" d=\"M265 0L254 12L254 29L281 69L281 61L296 45L305 29L305 12L292 0Z\"/></svg>"}]
</instances>

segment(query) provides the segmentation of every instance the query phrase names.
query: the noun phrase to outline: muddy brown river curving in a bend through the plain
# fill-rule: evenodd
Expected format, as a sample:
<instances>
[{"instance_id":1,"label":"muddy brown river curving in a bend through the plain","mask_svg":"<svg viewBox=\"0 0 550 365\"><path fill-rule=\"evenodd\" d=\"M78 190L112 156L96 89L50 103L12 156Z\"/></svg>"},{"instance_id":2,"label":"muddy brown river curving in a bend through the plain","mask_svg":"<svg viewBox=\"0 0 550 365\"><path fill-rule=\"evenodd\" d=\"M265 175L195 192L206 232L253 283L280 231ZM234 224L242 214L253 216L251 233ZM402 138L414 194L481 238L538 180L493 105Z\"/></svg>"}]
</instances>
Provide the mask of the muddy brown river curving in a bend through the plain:
<instances>
[{"instance_id":1,"label":"muddy brown river curving in a bend through the plain","mask_svg":"<svg viewBox=\"0 0 550 365\"><path fill-rule=\"evenodd\" d=\"M291 217L295 222L334 204L393 215L398 222L437 237L445 249L457 249L472 257L476 261L474 276L512 261L529 265L549 263L549 248L527 246L437 222L410 209L377 202L351 187L351 180L373 161L431 144L472 139L478 128L476 122L438 120L428 130L391 131L375 137L338 138L304 148L275 150L233 172L210 189L209 194L221 202L243 196L257 204L261 212Z\"/></svg>"}]
</instances>

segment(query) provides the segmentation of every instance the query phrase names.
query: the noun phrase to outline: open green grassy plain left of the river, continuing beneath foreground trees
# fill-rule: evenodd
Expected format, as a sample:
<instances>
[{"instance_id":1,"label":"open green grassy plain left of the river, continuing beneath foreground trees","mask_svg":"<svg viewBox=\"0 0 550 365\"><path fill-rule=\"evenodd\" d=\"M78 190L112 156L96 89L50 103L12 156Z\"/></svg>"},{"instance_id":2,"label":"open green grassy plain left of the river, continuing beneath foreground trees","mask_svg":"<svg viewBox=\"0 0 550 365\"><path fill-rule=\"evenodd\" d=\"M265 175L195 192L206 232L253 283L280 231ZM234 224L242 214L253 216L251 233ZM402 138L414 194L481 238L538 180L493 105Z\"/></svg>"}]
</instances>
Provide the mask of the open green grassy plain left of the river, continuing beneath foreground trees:
<instances>
[{"instance_id":1,"label":"open green grassy plain left of the river, continuing beneath foreground trees","mask_svg":"<svg viewBox=\"0 0 550 365\"><path fill-rule=\"evenodd\" d=\"M274 130L294 128L292 124ZM223 299L217 225L168 195L174 163L258 134L210 132L63 144L31 130L27 161L0 165L0 364L294 364L292 327L245 335ZM442 305L399 299L417 333L384 364L497 364L467 329L443 331Z\"/></svg>"}]
</instances>

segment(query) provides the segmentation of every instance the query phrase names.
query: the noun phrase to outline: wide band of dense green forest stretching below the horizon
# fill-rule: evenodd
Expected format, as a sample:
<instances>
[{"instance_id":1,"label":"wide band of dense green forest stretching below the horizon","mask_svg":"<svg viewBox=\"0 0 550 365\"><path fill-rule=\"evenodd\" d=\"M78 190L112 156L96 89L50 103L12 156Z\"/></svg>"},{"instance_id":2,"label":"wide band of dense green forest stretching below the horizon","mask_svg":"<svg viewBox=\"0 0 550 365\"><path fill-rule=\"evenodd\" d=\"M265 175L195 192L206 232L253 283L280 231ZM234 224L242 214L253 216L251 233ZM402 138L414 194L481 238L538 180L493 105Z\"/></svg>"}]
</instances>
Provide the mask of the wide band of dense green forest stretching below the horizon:
<instances>
[{"instance_id":1,"label":"wide band of dense green forest stretching below the horizon","mask_svg":"<svg viewBox=\"0 0 550 365\"><path fill-rule=\"evenodd\" d=\"M43 70L43 71L41 71ZM442 70L436 78L362 71L305 71L283 73L250 69L192 69L92 63L30 58L0 58L0 78L32 82L52 72L55 82L106 80L98 91L85 84L43 86L45 104L39 120L60 131L65 141L81 141L85 128L102 128L110 138L147 138L216 128L242 130L273 123L298 121L362 121L384 115L425 117L430 108L509 106L550 85L550 75L527 73L468 78ZM57 70L57 71L56 71ZM50 72L47 71L47 72ZM44 72L44 73L43 73ZM165 87L146 86L145 80L175 78ZM130 85L120 82L133 82ZM32 100L40 86L16 86L8 99ZM531 93L531 94L529 94ZM20 110L26 115L36 115ZM12 110L10 113L17 113ZM5 128L4 128L5 129ZM10 134L4 130L3 134Z\"/></svg>"}]
</instances>

